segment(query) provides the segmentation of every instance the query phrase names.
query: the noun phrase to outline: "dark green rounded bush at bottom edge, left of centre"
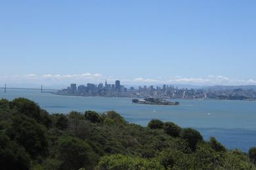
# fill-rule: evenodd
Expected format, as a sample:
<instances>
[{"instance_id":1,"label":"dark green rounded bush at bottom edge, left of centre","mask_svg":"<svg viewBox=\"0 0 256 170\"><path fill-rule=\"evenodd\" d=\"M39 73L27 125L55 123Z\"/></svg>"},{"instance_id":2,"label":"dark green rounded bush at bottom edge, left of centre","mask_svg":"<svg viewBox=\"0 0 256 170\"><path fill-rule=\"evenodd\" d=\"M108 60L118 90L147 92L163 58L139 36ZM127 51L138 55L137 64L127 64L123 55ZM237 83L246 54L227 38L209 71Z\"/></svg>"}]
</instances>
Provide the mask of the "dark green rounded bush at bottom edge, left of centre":
<instances>
[{"instance_id":1,"label":"dark green rounded bush at bottom edge, left of centre","mask_svg":"<svg viewBox=\"0 0 256 170\"><path fill-rule=\"evenodd\" d=\"M76 137L61 137L58 144L60 169L91 168L98 160L89 144Z\"/></svg>"}]
</instances>

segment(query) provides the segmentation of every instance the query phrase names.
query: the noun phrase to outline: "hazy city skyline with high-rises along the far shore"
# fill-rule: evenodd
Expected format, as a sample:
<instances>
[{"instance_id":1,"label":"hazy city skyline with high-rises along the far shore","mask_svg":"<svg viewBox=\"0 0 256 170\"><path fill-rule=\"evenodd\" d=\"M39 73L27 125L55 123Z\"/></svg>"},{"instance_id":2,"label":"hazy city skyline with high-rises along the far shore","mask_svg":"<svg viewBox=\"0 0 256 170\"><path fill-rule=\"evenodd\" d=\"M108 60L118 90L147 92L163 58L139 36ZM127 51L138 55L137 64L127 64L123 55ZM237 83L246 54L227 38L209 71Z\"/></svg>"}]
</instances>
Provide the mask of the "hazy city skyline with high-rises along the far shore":
<instances>
[{"instance_id":1,"label":"hazy city skyline with high-rises along the far shore","mask_svg":"<svg viewBox=\"0 0 256 170\"><path fill-rule=\"evenodd\" d=\"M256 86L210 86L204 88L178 88L171 84L155 86L124 86L120 80L115 84L70 84L68 88L54 92L57 95L132 97L161 99L221 99L255 100Z\"/></svg>"}]
</instances>

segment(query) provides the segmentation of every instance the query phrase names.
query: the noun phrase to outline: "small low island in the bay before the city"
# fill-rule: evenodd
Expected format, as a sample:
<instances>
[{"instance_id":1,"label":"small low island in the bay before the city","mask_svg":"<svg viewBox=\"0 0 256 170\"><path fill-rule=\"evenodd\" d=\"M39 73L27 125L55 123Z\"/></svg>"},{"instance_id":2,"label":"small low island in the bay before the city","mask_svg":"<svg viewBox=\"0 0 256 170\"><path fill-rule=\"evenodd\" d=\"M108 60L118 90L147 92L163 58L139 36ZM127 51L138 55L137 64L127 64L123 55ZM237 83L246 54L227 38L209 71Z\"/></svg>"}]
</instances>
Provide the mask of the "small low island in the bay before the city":
<instances>
[{"instance_id":1,"label":"small low island in the bay before the city","mask_svg":"<svg viewBox=\"0 0 256 170\"><path fill-rule=\"evenodd\" d=\"M149 97L145 99L133 99L133 103L137 104L146 104L146 105L168 105L168 106L175 106L179 105L179 102L171 102L167 101L165 99L160 99L160 98L154 98L154 97Z\"/></svg>"}]
</instances>

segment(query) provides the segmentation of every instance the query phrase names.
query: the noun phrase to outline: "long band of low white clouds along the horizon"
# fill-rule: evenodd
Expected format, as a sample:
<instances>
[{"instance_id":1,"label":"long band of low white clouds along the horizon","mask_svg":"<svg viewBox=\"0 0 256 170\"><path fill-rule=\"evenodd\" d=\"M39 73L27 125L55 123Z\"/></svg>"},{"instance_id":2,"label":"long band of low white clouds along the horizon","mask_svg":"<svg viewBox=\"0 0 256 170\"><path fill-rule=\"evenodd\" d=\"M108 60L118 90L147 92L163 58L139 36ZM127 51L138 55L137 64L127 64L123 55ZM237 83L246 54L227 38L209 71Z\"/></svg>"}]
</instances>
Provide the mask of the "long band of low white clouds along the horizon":
<instances>
[{"instance_id":1,"label":"long band of low white clouds along the horizon","mask_svg":"<svg viewBox=\"0 0 256 170\"><path fill-rule=\"evenodd\" d=\"M108 80L108 83L114 83L117 79L121 80L123 84L194 84L194 85L256 85L256 80L240 79L240 78L229 78L223 75L209 75L205 77L182 77L182 76L171 76L164 78L157 76L156 78L115 78L113 76L103 76L100 73L82 73L74 75L0 75L0 83L7 82L30 82L38 84L69 84L75 82L77 84L85 84L87 82L100 83Z\"/></svg>"}]
</instances>

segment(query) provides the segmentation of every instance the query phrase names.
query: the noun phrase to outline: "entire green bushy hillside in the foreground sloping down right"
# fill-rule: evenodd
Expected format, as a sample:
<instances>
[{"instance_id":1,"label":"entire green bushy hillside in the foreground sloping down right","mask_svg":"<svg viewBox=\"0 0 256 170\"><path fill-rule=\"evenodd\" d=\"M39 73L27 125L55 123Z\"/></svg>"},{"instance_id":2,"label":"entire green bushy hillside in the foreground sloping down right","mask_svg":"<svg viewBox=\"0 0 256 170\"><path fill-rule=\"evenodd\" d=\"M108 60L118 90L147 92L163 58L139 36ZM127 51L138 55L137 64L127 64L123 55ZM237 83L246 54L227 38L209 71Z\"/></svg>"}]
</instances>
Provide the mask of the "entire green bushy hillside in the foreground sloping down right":
<instances>
[{"instance_id":1,"label":"entire green bushy hillside in the foreground sloping down right","mask_svg":"<svg viewBox=\"0 0 256 170\"><path fill-rule=\"evenodd\" d=\"M256 169L256 148L227 150L173 122L129 124L115 111L49 114L0 100L0 169Z\"/></svg>"}]
</instances>

